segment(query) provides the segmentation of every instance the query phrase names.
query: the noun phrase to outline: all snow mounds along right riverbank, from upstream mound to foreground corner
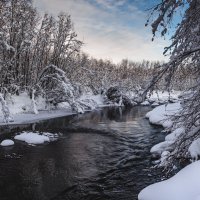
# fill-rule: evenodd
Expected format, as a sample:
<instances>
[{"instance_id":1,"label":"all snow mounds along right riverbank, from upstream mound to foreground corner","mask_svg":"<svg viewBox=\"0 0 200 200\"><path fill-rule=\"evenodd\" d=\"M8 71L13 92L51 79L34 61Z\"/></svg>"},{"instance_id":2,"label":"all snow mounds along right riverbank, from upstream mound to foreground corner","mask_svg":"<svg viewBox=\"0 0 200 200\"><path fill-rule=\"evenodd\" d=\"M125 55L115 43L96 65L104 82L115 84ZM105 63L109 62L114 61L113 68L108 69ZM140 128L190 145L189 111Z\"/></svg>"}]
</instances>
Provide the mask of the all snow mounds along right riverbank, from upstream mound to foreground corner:
<instances>
[{"instance_id":1,"label":"all snow mounds along right riverbank, from upstream mound to foreground corner","mask_svg":"<svg viewBox=\"0 0 200 200\"><path fill-rule=\"evenodd\" d=\"M151 153L160 156L157 163L165 165L165 159L170 154L171 146L176 139L185 133L181 126L172 127L172 116L181 111L180 103L161 105L146 114L150 123L162 125L171 130L165 137L165 141L156 144L151 148ZM195 140L189 147L188 152L191 158L198 159L200 155L199 140ZM155 183L143 189L138 195L139 200L199 200L200 199L200 161L194 162L172 178Z\"/></svg>"}]
</instances>

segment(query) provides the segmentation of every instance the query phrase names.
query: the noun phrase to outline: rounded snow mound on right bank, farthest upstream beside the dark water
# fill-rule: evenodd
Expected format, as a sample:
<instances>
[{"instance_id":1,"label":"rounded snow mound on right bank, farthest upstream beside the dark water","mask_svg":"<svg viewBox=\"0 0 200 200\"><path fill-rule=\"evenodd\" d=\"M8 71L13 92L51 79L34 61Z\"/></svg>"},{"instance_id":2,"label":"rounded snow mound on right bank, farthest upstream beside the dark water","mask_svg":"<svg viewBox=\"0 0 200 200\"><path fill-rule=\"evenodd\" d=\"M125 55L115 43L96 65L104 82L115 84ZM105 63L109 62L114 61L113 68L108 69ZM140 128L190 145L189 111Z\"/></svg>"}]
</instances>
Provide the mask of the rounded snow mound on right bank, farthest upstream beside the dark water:
<instances>
[{"instance_id":1,"label":"rounded snow mound on right bank, farthest upstream beside the dark water","mask_svg":"<svg viewBox=\"0 0 200 200\"><path fill-rule=\"evenodd\" d=\"M162 125L164 128L170 128L172 121L170 117L181 109L180 102L167 105L161 105L154 108L146 114L152 124Z\"/></svg>"}]
</instances>

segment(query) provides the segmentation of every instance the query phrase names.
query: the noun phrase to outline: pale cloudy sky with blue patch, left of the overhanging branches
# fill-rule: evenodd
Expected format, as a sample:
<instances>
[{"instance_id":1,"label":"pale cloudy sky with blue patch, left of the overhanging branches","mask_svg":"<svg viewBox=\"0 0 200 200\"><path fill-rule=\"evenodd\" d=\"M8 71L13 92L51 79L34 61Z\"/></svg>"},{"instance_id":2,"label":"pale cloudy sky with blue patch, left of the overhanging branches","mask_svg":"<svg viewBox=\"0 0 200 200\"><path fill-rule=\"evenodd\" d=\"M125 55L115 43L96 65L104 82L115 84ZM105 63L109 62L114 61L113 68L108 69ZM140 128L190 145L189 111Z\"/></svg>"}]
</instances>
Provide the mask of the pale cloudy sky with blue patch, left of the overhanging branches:
<instances>
[{"instance_id":1,"label":"pale cloudy sky with blue patch, left of the overhanging branches","mask_svg":"<svg viewBox=\"0 0 200 200\"><path fill-rule=\"evenodd\" d=\"M34 0L40 12L71 15L82 50L95 58L120 62L166 60L162 52L168 40L151 41L151 28L145 27L146 11L158 0Z\"/></svg>"}]
</instances>

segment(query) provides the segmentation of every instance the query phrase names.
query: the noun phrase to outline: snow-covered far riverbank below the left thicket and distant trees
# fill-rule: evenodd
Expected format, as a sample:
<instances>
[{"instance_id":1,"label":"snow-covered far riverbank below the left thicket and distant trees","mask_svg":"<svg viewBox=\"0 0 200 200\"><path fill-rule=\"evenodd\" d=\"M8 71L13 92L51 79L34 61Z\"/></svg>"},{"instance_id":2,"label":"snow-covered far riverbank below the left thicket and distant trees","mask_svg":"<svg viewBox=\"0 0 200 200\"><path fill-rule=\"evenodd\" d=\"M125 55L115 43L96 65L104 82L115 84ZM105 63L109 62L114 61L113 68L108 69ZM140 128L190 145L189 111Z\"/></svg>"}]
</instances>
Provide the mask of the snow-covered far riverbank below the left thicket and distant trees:
<instances>
[{"instance_id":1,"label":"snow-covered far riverbank below the left thicket and distant trees","mask_svg":"<svg viewBox=\"0 0 200 200\"><path fill-rule=\"evenodd\" d=\"M176 100L179 91L173 91L170 94L172 100ZM133 98L134 94L128 94L128 97ZM86 93L79 98L80 101L86 102L86 104L91 104L90 107L95 109L97 107L105 106L104 97L102 95L93 95L92 93ZM141 105L152 105L156 106L169 100L168 92L153 92L150 97L147 98L145 102ZM87 102L88 101L88 102ZM91 101L91 102L89 102ZM37 121L51 119L56 117L63 117L68 115L76 114L67 102L59 103L57 106L47 105L45 99L42 97L37 97L35 99L35 105L37 108L37 114L34 113L33 102L26 92L21 93L19 96L12 95L10 98L6 99L9 111L12 116L12 121L9 124L26 124L34 123ZM108 105L107 105L108 106ZM114 106L117 106L114 104ZM92 110L89 109L89 110ZM0 107L0 126L7 125L4 123L3 113Z\"/></svg>"}]
</instances>

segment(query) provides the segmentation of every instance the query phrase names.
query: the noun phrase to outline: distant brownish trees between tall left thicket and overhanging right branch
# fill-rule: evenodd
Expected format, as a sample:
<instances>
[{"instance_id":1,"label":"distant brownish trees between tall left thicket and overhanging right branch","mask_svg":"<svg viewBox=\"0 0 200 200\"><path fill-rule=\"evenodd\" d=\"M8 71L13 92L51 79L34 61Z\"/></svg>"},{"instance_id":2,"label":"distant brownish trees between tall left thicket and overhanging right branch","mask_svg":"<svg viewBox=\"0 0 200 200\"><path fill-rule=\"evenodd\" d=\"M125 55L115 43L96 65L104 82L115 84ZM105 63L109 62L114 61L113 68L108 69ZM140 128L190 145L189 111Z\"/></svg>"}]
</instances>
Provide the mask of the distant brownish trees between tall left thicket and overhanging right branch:
<instances>
[{"instance_id":1,"label":"distant brownish trees between tall left thicket and overhanging right branch","mask_svg":"<svg viewBox=\"0 0 200 200\"><path fill-rule=\"evenodd\" d=\"M111 86L132 92L142 89L160 65L160 62L128 60L114 64L109 60L90 58L85 53L72 58L72 63L67 69L69 79L91 88L95 94L106 92Z\"/></svg>"}]
</instances>

